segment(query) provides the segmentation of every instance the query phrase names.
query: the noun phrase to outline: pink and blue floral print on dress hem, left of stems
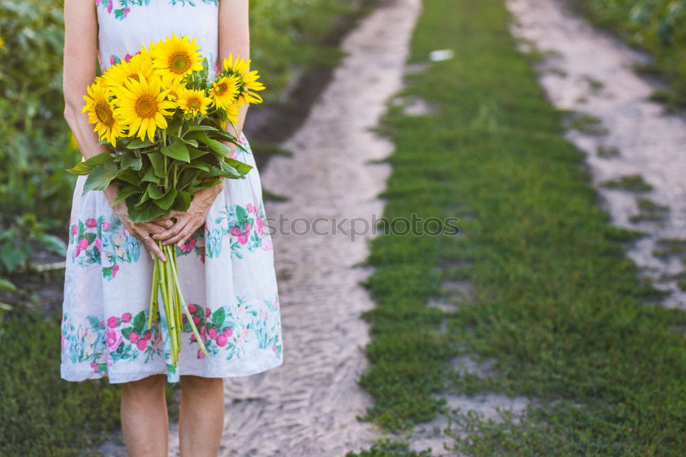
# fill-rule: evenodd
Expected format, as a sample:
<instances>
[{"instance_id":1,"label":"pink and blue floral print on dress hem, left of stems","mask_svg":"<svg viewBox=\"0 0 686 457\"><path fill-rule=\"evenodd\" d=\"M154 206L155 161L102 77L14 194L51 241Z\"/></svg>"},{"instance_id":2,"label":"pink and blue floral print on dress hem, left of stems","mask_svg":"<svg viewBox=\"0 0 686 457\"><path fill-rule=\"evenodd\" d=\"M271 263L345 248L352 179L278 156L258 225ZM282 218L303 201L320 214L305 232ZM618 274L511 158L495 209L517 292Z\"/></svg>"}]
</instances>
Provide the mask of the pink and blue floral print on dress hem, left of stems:
<instances>
[{"instance_id":1,"label":"pink and blue floral print on dress hem, left of stems","mask_svg":"<svg viewBox=\"0 0 686 457\"><path fill-rule=\"evenodd\" d=\"M94 373L105 373L121 360L149 362L163 352L159 323L147 328L148 310L133 316L124 312L101 321L88 316L75 323L69 313L62 316L62 354L72 363L90 362ZM159 315L159 314L158 314Z\"/></svg>"}]
</instances>

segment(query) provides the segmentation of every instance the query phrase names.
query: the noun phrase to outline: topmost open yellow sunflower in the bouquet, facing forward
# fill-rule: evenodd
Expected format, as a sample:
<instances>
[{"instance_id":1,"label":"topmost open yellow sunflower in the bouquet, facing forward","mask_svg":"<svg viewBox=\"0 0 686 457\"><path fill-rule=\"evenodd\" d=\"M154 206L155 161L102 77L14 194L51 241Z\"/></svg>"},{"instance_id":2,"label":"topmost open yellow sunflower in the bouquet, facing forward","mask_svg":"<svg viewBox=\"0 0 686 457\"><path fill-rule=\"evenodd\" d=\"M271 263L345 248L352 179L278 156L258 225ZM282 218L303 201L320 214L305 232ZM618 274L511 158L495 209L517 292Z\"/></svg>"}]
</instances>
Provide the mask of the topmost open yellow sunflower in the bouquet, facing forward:
<instances>
[{"instance_id":1,"label":"topmost open yellow sunflower in the bouquet, facing forward","mask_svg":"<svg viewBox=\"0 0 686 457\"><path fill-rule=\"evenodd\" d=\"M178 38L176 34L171 34L171 38L158 41L152 47L152 66L162 74L167 73L176 79L182 79L193 71L202 71L199 48L196 38L189 41L187 36Z\"/></svg>"}]
</instances>

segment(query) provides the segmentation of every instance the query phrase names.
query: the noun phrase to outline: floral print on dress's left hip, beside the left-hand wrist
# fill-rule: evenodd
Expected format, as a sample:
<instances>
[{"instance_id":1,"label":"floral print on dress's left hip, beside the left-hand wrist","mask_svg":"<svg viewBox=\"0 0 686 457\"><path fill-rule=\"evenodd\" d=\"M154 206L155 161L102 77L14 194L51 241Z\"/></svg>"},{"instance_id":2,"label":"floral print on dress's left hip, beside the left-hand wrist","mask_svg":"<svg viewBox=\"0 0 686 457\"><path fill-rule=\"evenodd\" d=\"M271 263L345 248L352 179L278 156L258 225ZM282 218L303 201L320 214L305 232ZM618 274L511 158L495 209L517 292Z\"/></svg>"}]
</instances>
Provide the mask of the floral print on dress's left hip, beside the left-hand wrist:
<instances>
[{"instance_id":1,"label":"floral print on dress's left hip, beside the left-hand wrist","mask_svg":"<svg viewBox=\"0 0 686 457\"><path fill-rule=\"evenodd\" d=\"M119 262L138 262L141 242L128 233L118 217L112 223L104 216L71 223L69 243L74 246L72 255L78 267L91 264L102 266L102 276L113 280L119 271Z\"/></svg>"}]
</instances>

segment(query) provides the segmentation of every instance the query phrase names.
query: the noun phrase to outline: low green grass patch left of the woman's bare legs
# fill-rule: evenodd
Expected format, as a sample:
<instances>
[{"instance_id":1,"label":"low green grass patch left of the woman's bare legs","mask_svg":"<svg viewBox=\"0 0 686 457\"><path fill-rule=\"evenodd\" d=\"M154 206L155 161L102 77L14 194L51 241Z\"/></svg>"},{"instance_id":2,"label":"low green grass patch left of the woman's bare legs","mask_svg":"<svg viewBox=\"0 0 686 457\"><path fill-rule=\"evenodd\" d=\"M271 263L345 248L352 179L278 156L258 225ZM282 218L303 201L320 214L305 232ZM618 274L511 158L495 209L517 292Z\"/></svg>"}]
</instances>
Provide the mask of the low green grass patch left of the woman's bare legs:
<instances>
[{"instance_id":1,"label":"low green grass patch left of the woman's bare legs","mask_svg":"<svg viewBox=\"0 0 686 457\"><path fill-rule=\"evenodd\" d=\"M0 347L0 454L78 456L119 425L119 387L60 379L57 316L7 315Z\"/></svg>"}]
</instances>

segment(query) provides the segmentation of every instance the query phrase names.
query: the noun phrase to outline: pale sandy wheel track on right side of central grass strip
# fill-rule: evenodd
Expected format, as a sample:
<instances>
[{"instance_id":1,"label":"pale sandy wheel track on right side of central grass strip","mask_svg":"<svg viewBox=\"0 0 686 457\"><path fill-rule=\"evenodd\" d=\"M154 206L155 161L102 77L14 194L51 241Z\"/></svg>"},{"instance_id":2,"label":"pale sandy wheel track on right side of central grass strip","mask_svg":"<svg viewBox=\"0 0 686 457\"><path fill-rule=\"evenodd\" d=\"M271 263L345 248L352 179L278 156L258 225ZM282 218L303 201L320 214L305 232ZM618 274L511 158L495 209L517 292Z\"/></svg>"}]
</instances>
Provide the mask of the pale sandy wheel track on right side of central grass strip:
<instances>
[{"instance_id":1,"label":"pale sandy wheel track on right side of central grass strip","mask_svg":"<svg viewBox=\"0 0 686 457\"><path fill-rule=\"evenodd\" d=\"M665 306L686 308L686 294L674 279L664 277L683 271L681 259L652 254L659 238L686 234L686 120L664 114L659 104L648 99L656 87L633 71L635 64L648 61L645 55L593 29L569 12L563 1L507 3L518 22L512 32L525 40L522 47L533 45L549 56L541 64L540 80L552 103L602 121L596 132L567 132L567 138L587 152L593 183L639 174L653 187L647 193L599 190L613 223L646 232L628 254L646 276L656 280L655 286L672 291ZM613 149L619 154L603 153ZM647 197L669 210L661 221L631 221L639 213L636 197Z\"/></svg>"}]
</instances>

